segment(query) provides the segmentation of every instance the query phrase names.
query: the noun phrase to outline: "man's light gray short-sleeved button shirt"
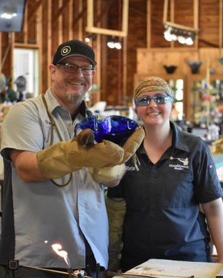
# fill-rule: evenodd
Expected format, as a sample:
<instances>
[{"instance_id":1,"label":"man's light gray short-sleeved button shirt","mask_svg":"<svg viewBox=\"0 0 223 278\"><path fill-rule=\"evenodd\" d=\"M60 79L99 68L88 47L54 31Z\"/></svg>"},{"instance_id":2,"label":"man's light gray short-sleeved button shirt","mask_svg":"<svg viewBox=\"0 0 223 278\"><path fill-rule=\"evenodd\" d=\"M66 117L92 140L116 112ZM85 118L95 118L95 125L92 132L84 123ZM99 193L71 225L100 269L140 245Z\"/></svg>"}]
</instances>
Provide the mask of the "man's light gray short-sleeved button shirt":
<instances>
[{"instance_id":1,"label":"man's light gray short-sleeved button shirt","mask_svg":"<svg viewBox=\"0 0 223 278\"><path fill-rule=\"evenodd\" d=\"M75 125L86 115L80 113L72 122L50 90L45 94L63 140L75 136ZM10 149L39 152L50 145L51 122L41 96L22 101L10 109L2 127L1 155L5 162L3 231L0 263L10 259L21 265L66 268L51 245L60 243L68 252L72 268L84 268L83 234L91 245L95 260L107 268L108 223L104 188L91 178L88 168L72 173L65 187L52 181L24 182L9 158ZM54 129L54 143L59 137ZM57 179L68 181L69 175ZM15 229L15 235L12 235Z\"/></svg>"}]
</instances>

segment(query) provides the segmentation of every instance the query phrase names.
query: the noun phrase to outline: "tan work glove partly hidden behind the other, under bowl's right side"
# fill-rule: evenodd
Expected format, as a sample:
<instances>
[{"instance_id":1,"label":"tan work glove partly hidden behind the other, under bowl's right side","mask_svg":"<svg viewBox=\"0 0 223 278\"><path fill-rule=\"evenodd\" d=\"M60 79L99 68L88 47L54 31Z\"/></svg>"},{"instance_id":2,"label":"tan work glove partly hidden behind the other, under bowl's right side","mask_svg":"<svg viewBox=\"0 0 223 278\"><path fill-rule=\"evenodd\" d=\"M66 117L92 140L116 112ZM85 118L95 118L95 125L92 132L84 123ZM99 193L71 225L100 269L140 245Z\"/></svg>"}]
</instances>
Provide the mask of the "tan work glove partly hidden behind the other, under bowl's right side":
<instances>
[{"instance_id":1,"label":"tan work glove partly hidden behind the other, under bowl's right side","mask_svg":"<svg viewBox=\"0 0 223 278\"><path fill-rule=\"evenodd\" d=\"M94 167L90 169L91 177L94 181L98 183L106 183L110 181L115 181L116 179L121 179L125 173L125 162L127 162L134 154L137 152L137 149L141 145L141 142L144 140L145 132L142 126L139 126L138 129L132 133L128 140L123 145L124 156L121 163L112 167L97 168ZM136 165L136 161L134 161Z\"/></svg>"}]
</instances>

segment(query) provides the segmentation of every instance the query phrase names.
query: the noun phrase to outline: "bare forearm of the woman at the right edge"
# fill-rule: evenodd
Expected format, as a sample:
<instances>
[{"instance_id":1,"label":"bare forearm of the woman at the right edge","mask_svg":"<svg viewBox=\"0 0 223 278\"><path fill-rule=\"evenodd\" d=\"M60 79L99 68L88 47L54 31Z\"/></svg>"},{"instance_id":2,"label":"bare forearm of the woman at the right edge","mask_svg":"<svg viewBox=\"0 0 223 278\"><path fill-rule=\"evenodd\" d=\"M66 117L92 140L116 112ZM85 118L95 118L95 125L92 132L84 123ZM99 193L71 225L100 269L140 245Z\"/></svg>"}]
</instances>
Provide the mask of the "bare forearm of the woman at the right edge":
<instances>
[{"instance_id":1,"label":"bare forearm of the woman at the right edge","mask_svg":"<svg viewBox=\"0 0 223 278\"><path fill-rule=\"evenodd\" d=\"M223 203L222 198L202 204L211 237L217 249L218 263L223 263Z\"/></svg>"}]
</instances>

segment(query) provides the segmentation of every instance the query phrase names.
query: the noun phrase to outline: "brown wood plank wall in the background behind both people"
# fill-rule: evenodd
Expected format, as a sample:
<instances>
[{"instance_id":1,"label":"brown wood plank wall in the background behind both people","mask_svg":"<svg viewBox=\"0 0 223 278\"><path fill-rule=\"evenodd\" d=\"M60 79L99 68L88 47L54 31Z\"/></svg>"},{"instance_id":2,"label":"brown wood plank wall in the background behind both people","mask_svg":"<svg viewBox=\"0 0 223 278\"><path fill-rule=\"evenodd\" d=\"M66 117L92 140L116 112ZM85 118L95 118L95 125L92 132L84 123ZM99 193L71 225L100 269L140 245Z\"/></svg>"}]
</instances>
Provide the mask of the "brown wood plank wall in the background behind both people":
<instances>
[{"instance_id":1,"label":"brown wood plank wall in the background behind both people","mask_svg":"<svg viewBox=\"0 0 223 278\"><path fill-rule=\"evenodd\" d=\"M121 4L121 0L94 0L95 26L120 28ZM178 74L188 74L186 60L203 60L203 72L205 61L210 58L211 67L223 74L223 66L217 61L223 55L222 0L169 0L169 20L186 26L198 24L197 43L191 47L164 40L164 0L130 0L129 5L128 37L120 39L121 51L107 48L106 35L95 35L90 42L99 65L94 82L101 88L101 100L111 105L128 104L134 75L164 74L164 64L175 63ZM196 14L198 17L194 18ZM2 72L13 76L14 47L39 49L40 93L45 92L50 85L48 65L57 45L72 38L84 40L85 27L86 0L27 0L24 31L11 38L8 33L0 33L1 61L8 44L11 46Z\"/></svg>"}]
</instances>

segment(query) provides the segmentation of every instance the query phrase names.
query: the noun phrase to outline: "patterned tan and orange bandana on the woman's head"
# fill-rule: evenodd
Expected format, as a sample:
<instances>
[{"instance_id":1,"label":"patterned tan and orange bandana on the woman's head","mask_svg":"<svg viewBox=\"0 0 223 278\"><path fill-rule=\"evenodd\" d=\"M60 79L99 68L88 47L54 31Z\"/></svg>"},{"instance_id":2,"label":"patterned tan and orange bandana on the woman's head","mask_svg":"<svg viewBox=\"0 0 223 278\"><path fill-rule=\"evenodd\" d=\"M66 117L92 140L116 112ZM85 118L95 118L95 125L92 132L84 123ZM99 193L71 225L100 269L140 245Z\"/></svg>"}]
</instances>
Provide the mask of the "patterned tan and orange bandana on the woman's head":
<instances>
[{"instance_id":1,"label":"patterned tan and orange bandana on the woman's head","mask_svg":"<svg viewBox=\"0 0 223 278\"><path fill-rule=\"evenodd\" d=\"M139 97L144 92L152 92L152 91L159 91L164 92L165 94L169 95L174 101L174 94L169 86L167 81L161 79L160 77L146 77L145 79L141 80L137 85L137 88L134 90L134 100Z\"/></svg>"}]
</instances>

